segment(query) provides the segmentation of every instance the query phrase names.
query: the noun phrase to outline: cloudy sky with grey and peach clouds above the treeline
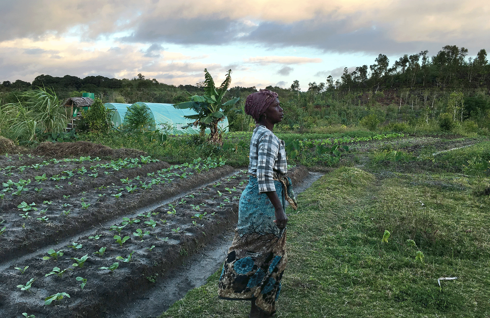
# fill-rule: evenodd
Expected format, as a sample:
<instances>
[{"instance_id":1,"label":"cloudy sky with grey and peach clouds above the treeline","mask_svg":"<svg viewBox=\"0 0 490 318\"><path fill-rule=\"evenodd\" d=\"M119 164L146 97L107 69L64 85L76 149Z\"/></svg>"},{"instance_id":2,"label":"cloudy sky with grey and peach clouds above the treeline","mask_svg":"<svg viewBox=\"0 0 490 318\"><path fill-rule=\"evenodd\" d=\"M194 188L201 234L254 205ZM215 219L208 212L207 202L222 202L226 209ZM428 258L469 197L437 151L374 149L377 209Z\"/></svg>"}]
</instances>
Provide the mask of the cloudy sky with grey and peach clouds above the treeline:
<instances>
[{"instance_id":1,"label":"cloudy sky with grey and peach clouds above the treeline","mask_svg":"<svg viewBox=\"0 0 490 318\"><path fill-rule=\"evenodd\" d=\"M386 54L490 50L488 0L0 0L0 82L41 74L290 87Z\"/></svg>"}]
</instances>

